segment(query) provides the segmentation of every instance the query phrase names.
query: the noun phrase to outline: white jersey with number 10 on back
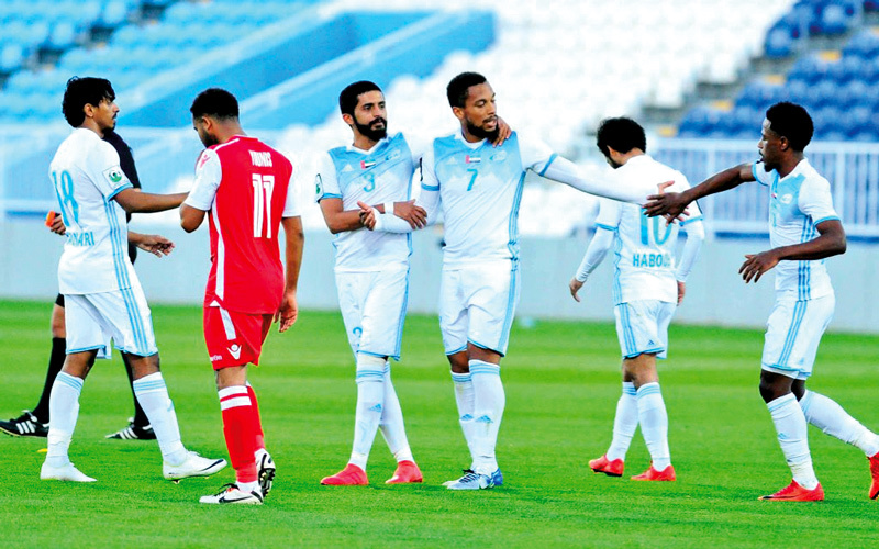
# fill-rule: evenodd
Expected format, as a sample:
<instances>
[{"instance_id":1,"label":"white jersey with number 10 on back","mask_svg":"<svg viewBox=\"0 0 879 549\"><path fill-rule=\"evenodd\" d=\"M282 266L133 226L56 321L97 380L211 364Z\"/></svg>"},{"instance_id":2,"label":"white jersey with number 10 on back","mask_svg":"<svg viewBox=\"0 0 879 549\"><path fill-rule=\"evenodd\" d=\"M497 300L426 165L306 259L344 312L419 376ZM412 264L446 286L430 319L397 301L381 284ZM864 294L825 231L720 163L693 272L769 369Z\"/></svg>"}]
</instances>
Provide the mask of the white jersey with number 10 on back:
<instances>
[{"instance_id":1,"label":"white jersey with number 10 on back","mask_svg":"<svg viewBox=\"0 0 879 549\"><path fill-rule=\"evenodd\" d=\"M665 181L675 184L668 192L690 188L678 170L654 160L649 155L630 158L613 170L619 186L655 187ZM675 250L679 224L667 224L663 217L648 217L637 204L601 199L596 225L615 233L613 300L615 304L641 300L677 303L678 284L675 278ZM690 215L681 224L702 219L699 205L688 206Z\"/></svg>"}]
</instances>

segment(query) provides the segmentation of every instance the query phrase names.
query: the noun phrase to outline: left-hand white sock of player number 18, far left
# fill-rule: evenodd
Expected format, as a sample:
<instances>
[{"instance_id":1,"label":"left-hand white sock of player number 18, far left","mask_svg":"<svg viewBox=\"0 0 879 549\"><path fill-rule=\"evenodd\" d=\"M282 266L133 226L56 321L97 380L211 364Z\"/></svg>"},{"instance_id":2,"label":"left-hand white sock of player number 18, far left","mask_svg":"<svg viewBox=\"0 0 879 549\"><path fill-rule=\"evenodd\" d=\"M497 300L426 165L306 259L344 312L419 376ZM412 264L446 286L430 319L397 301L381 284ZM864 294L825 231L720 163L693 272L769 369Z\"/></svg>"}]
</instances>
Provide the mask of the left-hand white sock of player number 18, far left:
<instances>
[{"instance_id":1,"label":"left-hand white sock of player number 18, far left","mask_svg":"<svg viewBox=\"0 0 879 549\"><path fill-rule=\"evenodd\" d=\"M79 393L82 392L84 380L58 372L48 396L48 449L46 463L51 467L64 467L70 462L67 450L74 438L76 419L79 416Z\"/></svg>"}]
</instances>

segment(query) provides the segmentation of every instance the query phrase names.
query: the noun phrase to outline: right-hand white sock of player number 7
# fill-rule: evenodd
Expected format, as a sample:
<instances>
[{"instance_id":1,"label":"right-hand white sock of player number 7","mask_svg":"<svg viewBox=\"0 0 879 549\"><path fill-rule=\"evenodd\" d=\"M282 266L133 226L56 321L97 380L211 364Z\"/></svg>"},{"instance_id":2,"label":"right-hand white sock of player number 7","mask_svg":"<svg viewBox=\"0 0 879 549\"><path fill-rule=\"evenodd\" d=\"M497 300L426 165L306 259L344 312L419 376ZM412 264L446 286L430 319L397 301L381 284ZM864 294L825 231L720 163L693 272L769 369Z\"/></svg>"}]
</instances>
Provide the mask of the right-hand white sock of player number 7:
<instances>
[{"instance_id":1,"label":"right-hand white sock of player number 7","mask_svg":"<svg viewBox=\"0 0 879 549\"><path fill-rule=\"evenodd\" d=\"M498 469L494 448L507 403L501 367L482 360L470 360L469 365L474 383L474 470L491 475Z\"/></svg>"}]
</instances>

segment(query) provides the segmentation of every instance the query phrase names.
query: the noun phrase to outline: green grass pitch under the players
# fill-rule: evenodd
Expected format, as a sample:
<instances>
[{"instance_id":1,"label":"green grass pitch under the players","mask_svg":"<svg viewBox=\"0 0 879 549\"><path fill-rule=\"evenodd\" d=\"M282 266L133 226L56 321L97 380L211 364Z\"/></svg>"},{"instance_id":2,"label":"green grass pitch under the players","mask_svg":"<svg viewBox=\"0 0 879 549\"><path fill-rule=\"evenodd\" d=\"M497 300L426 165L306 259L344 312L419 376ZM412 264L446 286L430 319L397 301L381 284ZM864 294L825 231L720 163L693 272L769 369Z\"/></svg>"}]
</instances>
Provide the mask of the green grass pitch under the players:
<instances>
[{"instance_id":1,"label":"green grass pitch under the players","mask_svg":"<svg viewBox=\"0 0 879 549\"><path fill-rule=\"evenodd\" d=\"M48 356L47 303L0 302L0 415L36 403ZM162 366L183 442L225 457L220 410L197 307L155 306ZM0 437L3 547L876 547L879 502L867 498L864 455L810 428L822 503L757 496L790 480L757 392L763 335L672 326L660 380L678 481L638 483L649 458L636 435L626 475L593 474L620 393L610 324L516 326L502 377L507 412L498 456L505 485L454 493L467 450L434 317L410 316L393 379L422 485L388 486L394 468L380 436L370 485L325 488L351 450L356 390L338 313L304 311L269 336L252 371L278 464L263 507L198 503L233 480L162 479L155 442L105 440L131 415L122 362L98 362L82 397L73 461L90 485L38 480L45 439ZM810 386L879 428L879 338L830 334Z\"/></svg>"}]
</instances>

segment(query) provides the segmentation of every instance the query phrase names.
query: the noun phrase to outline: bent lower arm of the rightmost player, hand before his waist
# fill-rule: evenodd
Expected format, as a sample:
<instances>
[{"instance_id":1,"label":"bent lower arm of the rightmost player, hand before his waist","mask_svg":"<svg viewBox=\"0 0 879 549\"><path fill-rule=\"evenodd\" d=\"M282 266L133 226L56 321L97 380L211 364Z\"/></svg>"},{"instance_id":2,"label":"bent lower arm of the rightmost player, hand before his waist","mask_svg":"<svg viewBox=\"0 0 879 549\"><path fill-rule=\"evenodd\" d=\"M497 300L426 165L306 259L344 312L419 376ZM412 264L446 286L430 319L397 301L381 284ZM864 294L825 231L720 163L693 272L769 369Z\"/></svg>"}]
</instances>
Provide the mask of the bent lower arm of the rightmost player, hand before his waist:
<instances>
[{"instance_id":1,"label":"bent lower arm of the rightmost player, hand before his waist","mask_svg":"<svg viewBox=\"0 0 879 549\"><path fill-rule=\"evenodd\" d=\"M768 271L779 261L799 261L824 259L825 257L845 254L846 239L845 229L839 220L822 221L815 228L819 237L812 240L772 248L760 254L748 254L745 262L738 269L745 283L757 282L764 272Z\"/></svg>"}]
</instances>

